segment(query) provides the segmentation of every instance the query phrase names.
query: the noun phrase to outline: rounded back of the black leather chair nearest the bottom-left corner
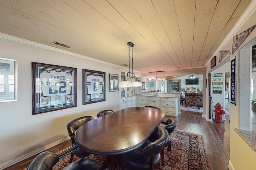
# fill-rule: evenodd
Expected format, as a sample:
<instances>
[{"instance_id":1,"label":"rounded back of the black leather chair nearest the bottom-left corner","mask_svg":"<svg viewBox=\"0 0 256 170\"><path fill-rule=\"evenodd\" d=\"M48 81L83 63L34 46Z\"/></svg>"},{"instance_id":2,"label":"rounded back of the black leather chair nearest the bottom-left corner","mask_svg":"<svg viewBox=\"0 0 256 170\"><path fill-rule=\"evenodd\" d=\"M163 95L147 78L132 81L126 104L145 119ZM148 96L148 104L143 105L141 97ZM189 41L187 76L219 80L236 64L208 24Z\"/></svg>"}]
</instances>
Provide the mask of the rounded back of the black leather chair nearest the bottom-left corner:
<instances>
[{"instance_id":1,"label":"rounded back of the black leather chair nearest the bottom-left corner","mask_svg":"<svg viewBox=\"0 0 256 170\"><path fill-rule=\"evenodd\" d=\"M53 152L41 152L28 165L27 170L52 170L59 161L59 155Z\"/></svg>"}]
</instances>

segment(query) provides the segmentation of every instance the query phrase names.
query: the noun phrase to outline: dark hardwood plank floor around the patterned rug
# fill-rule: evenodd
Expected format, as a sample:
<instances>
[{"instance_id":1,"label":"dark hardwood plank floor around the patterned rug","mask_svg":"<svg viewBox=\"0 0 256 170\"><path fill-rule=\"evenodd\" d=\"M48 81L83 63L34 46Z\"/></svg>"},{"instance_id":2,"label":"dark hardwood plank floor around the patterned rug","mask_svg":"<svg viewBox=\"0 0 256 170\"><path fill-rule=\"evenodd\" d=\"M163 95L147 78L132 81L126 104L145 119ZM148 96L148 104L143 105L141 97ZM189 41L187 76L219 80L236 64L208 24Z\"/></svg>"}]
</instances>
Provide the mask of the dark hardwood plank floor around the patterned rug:
<instances>
[{"instance_id":1,"label":"dark hardwood plank floor around the patterned rug","mask_svg":"<svg viewBox=\"0 0 256 170\"><path fill-rule=\"evenodd\" d=\"M166 119L169 117L166 115ZM224 123L206 121L202 115L191 114L189 111L182 111L176 119L177 129L197 133L204 136L204 144L211 170L228 170L229 161L229 121ZM223 144L222 144L223 143ZM65 141L55 147L48 149L51 152L58 152L68 146L71 141ZM36 155L35 155L36 156ZM26 168L35 156L27 158L5 170L21 170Z\"/></svg>"}]
</instances>

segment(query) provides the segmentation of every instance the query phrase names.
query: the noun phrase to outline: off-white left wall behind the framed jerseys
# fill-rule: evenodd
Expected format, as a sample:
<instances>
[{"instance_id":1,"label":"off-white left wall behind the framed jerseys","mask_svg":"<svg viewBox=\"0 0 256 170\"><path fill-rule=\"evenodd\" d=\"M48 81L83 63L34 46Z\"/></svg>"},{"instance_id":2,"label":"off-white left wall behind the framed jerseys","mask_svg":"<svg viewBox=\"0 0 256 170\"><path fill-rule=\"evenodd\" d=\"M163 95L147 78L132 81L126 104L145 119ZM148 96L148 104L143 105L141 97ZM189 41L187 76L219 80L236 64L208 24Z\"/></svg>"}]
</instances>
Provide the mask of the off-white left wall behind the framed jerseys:
<instances>
[{"instance_id":1,"label":"off-white left wall behind the framed jerseys","mask_svg":"<svg viewBox=\"0 0 256 170\"><path fill-rule=\"evenodd\" d=\"M1 164L68 136L66 124L103 109L119 110L119 92L108 92L109 73L119 68L64 53L0 38L0 57L18 60L18 101L0 103ZM32 64L47 63L77 68L77 107L32 115ZM82 105L82 69L106 72L106 101Z\"/></svg>"}]
</instances>

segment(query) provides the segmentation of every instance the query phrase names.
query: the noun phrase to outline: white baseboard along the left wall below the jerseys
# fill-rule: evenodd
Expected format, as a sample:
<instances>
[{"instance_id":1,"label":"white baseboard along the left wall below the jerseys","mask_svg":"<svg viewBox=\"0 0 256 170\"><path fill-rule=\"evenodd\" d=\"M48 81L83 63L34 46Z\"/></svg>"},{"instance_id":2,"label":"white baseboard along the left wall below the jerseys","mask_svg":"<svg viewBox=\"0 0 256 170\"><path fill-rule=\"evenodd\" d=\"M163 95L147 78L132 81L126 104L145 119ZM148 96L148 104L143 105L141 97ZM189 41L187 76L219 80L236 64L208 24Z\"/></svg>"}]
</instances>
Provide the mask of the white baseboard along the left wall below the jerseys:
<instances>
[{"instance_id":1,"label":"white baseboard along the left wall below the jerseys","mask_svg":"<svg viewBox=\"0 0 256 170\"><path fill-rule=\"evenodd\" d=\"M62 142L64 142L64 141L67 141L67 140L69 140L69 139L70 139L69 136L68 136L68 137L65 137L65 138L63 138L63 139L60 139L60 140L54 142L54 143L50 143L49 145L46 145L46 146L41 147L41 148L39 148L39 149L36 149L36 150L34 150L34 151L32 151L32 152L29 152L29 153L27 153L27 154L24 154L24 155L22 155L22 156L19 156L19 157L13 159L13 160L10 160L10 161L8 161L8 162L6 162L6 163L4 163L4 164L1 164L1 165L0 165L0 170L3 170L4 168L7 168L7 167L9 167L9 166L12 166L12 165L14 165L14 164L16 164L16 163L18 163L18 162L20 162L20 161L22 161L22 160L25 160L25 159L27 159L27 158L29 158L29 157L31 157L31 156L34 156L35 154L38 154L38 153L40 153L40 152L43 152L44 150L50 149L51 147L54 147L54 146L56 146L56 145L59 145L60 143L62 143ZM70 145L71 145L71 143L70 143Z\"/></svg>"}]
</instances>

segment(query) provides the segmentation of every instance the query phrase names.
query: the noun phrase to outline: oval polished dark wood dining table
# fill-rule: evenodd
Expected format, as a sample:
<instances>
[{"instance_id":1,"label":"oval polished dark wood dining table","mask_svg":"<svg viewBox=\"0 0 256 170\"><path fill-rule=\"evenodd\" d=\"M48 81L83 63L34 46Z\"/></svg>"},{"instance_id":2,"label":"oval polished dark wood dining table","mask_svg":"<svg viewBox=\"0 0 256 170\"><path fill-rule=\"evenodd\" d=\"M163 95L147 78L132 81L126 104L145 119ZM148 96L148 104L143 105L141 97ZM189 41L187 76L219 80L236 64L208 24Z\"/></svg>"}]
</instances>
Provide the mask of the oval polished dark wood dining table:
<instances>
[{"instance_id":1,"label":"oval polished dark wood dining table","mask_svg":"<svg viewBox=\"0 0 256 170\"><path fill-rule=\"evenodd\" d=\"M110 162L115 158L114 166L123 170L125 154L140 147L164 117L158 109L129 107L86 122L78 128L75 141L86 152L106 155Z\"/></svg>"}]
</instances>

